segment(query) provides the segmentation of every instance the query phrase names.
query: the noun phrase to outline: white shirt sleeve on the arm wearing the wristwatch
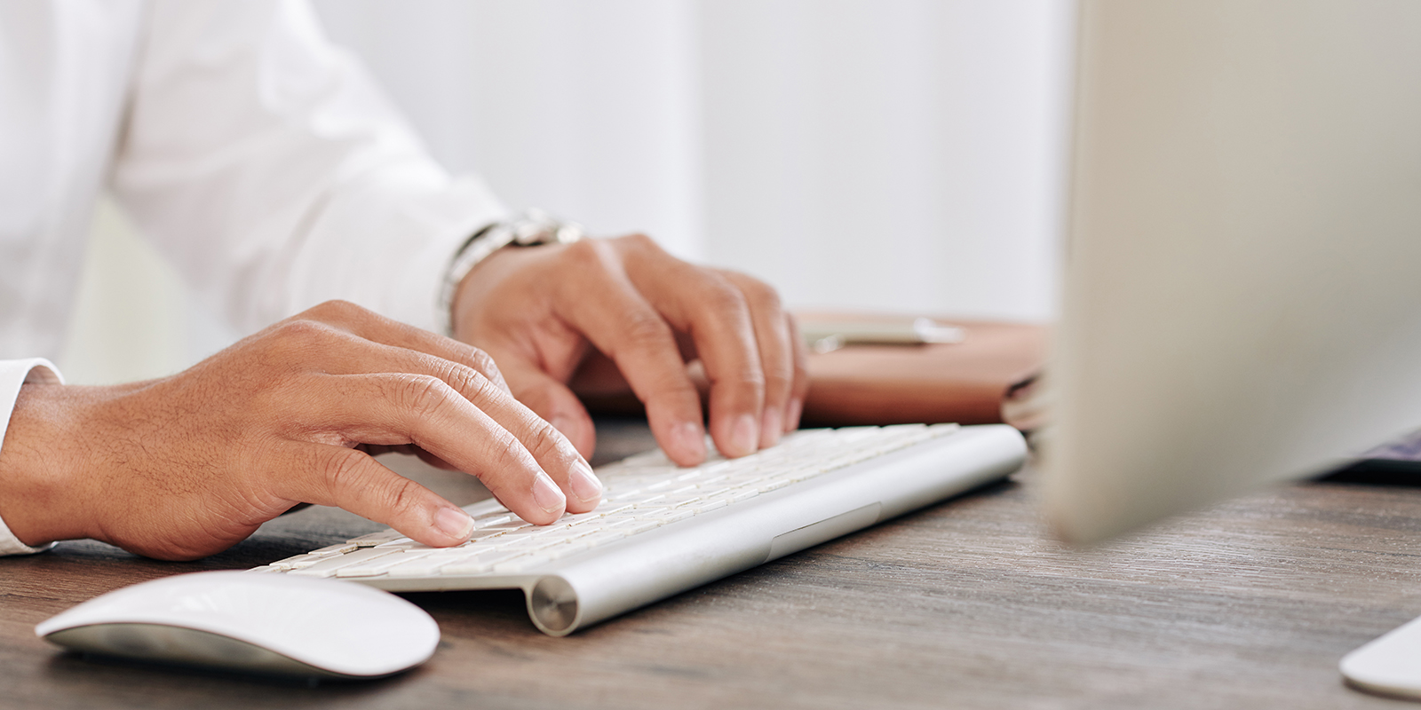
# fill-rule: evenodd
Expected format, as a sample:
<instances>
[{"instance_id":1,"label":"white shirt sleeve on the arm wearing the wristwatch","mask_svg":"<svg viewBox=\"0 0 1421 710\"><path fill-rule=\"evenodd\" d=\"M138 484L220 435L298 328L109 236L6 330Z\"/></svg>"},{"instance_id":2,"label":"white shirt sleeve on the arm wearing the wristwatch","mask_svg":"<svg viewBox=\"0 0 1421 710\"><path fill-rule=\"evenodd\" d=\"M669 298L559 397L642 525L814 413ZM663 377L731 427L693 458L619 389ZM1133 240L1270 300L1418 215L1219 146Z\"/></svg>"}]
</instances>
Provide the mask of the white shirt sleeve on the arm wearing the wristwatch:
<instances>
[{"instance_id":1,"label":"white shirt sleeve on the arm wearing the wristwatch","mask_svg":"<svg viewBox=\"0 0 1421 710\"><path fill-rule=\"evenodd\" d=\"M436 165L300 0L153 0L112 189L243 331L331 298L433 329L506 207Z\"/></svg>"}]
</instances>

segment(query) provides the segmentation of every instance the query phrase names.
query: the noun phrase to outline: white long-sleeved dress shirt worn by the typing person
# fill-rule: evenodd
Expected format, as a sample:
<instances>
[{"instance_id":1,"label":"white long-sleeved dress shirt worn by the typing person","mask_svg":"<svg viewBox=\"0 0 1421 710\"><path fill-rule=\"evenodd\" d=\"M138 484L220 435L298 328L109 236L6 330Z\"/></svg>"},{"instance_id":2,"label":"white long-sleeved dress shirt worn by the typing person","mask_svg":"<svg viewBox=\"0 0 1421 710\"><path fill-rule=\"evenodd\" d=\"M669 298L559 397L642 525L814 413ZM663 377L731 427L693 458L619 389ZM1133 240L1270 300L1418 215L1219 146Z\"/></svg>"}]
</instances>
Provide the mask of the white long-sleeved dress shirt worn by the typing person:
<instances>
[{"instance_id":1,"label":"white long-sleeved dress shirt worn by the typing person","mask_svg":"<svg viewBox=\"0 0 1421 710\"><path fill-rule=\"evenodd\" d=\"M242 331L331 298L432 329L453 251L506 216L300 0L0 3L4 425L26 376L58 378L17 358L63 345L104 189Z\"/></svg>"}]
</instances>

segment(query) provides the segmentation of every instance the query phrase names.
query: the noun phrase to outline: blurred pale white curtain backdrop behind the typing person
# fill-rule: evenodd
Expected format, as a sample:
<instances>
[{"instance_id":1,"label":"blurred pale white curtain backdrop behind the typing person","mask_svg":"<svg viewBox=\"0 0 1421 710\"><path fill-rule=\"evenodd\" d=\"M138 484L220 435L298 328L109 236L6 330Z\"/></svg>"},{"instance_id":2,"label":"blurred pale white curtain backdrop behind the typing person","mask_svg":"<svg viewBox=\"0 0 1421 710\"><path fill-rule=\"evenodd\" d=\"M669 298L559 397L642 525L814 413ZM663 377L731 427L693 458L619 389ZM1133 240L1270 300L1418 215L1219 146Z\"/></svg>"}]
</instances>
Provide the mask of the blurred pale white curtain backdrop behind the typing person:
<instances>
[{"instance_id":1,"label":"blurred pale white curtain backdrop behind the typing person","mask_svg":"<svg viewBox=\"0 0 1421 710\"><path fill-rule=\"evenodd\" d=\"M796 308L1056 310L1070 0L317 0L453 172L755 274ZM111 203L72 382L237 334Z\"/></svg>"}]
</instances>

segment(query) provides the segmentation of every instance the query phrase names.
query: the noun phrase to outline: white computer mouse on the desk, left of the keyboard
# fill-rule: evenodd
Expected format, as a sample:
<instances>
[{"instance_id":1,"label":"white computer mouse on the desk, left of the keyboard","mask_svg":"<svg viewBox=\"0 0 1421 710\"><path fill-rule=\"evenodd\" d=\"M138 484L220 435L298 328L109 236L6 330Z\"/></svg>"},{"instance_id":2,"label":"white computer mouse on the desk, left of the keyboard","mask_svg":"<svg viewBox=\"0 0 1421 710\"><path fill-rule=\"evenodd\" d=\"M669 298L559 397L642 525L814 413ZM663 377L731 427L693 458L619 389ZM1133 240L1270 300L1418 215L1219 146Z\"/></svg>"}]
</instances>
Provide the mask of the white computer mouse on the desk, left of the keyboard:
<instances>
[{"instance_id":1,"label":"white computer mouse on the desk, left of the keyboard","mask_svg":"<svg viewBox=\"0 0 1421 710\"><path fill-rule=\"evenodd\" d=\"M433 655L439 626L389 592L260 572L196 572L95 596L34 628L129 659L313 677L381 677Z\"/></svg>"}]
</instances>

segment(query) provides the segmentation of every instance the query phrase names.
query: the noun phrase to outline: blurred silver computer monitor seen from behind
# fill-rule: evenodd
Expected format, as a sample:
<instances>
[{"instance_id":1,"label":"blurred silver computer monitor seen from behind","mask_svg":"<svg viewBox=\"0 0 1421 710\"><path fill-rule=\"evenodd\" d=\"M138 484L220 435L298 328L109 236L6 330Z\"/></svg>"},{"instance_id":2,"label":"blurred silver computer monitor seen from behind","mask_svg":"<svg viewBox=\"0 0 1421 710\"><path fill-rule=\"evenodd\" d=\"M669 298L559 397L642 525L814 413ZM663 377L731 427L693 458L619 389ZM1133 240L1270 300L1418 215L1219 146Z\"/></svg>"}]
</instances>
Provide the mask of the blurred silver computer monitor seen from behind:
<instances>
[{"instance_id":1,"label":"blurred silver computer monitor seen from behind","mask_svg":"<svg viewBox=\"0 0 1421 710\"><path fill-rule=\"evenodd\" d=\"M1418 37L1412 0L1081 3L1059 535L1421 426Z\"/></svg>"}]
</instances>

